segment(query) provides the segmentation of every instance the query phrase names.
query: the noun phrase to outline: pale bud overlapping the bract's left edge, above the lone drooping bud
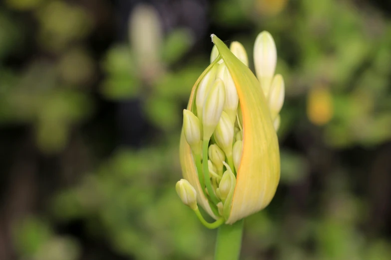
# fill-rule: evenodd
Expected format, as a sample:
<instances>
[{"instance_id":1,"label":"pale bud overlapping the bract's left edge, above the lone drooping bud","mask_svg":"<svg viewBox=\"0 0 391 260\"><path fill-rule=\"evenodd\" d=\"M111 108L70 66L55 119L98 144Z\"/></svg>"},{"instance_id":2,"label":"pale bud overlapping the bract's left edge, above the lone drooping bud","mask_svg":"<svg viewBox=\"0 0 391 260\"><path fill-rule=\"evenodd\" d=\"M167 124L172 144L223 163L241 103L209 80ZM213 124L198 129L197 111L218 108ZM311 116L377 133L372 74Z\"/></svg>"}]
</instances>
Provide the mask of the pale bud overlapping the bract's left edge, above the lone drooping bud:
<instances>
[{"instance_id":1,"label":"pale bud overlapping the bract's left edge, above the lone drooping bud","mask_svg":"<svg viewBox=\"0 0 391 260\"><path fill-rule=\"evenodd\" d=\"M184 109L183 110L183 133L187 143L190 145L194 153L201 153L201 126L200 121L196 116L194 116L191 111Z\"/></svg>"}]
</instances>

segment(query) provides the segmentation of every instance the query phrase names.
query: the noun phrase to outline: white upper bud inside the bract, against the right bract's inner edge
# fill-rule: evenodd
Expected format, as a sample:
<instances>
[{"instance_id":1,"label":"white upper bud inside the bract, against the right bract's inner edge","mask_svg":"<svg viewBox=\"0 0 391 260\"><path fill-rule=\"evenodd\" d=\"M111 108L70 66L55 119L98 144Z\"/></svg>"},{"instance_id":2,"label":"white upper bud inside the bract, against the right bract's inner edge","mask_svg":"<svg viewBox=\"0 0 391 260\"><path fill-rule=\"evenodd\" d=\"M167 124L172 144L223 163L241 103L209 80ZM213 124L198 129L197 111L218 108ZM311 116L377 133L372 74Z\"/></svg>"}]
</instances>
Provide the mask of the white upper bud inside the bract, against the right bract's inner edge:
<instances>
[{"instance_id":1,"label":"white upper bud inside the bract, against the right bract's inner edge","mask_svg":"<svg viewBox=\"0 0 391 260\"><path fill-rule=\"evenodd\" d=\"M225 103L223 111L225 111L232 124L235 124L236 111L238 109L239 96L236 91L235 82L231 77L228 69L224 70L224 86L225 86Z\"/></svg>"}]
</instances>

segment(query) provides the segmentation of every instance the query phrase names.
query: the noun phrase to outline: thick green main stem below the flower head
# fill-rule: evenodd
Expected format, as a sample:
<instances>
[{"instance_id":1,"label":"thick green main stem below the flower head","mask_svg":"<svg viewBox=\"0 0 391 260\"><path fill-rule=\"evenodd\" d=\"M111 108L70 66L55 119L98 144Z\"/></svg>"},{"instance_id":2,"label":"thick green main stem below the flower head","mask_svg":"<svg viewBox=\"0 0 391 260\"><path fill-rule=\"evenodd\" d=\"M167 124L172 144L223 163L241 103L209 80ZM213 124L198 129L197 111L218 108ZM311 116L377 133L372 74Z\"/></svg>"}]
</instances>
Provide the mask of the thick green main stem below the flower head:
<instances>
[{"instance_id":1,"label":"thick green main stem below the flower head","mask_svg":"<svg viewBox=\"0 0 391 260\"><path fill-rule=\"evenodd\" d=\"M217 231L215 260L238 260L242 246L244 220L222 225Z\"/></svg>"}]
</instances>

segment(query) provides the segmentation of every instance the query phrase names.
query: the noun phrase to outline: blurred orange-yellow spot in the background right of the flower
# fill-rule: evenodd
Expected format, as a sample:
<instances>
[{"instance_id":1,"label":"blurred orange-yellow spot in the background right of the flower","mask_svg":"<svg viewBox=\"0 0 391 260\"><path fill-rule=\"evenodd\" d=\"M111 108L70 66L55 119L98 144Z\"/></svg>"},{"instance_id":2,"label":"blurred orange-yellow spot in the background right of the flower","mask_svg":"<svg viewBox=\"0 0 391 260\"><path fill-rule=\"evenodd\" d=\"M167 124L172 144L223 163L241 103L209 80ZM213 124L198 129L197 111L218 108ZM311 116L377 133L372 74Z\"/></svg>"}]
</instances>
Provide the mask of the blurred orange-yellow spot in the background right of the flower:
<instances>
[{"instance_id":1,"label":"blurred orange-yellow spot in the background right of the flower","mask_svg":"<svg viewBox=\"0 0 391 260\"><path fill-rule=\"evenodd\" d=\"M311 88L307 96L307 116L311 123L323 126L333 117L333 97L325 87Z\"/></svg>"}]
</instances>

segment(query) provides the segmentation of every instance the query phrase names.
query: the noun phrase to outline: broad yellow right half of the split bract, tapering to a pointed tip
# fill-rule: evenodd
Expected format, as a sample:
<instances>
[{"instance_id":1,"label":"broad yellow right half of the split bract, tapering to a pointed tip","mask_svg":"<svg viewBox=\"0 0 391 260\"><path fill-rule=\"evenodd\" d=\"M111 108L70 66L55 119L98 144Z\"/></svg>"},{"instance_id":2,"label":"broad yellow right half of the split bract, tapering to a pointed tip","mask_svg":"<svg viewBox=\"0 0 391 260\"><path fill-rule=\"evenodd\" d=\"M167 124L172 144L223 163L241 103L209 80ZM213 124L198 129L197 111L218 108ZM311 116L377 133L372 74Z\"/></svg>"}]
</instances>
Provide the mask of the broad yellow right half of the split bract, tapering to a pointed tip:
<instances>
[{"instance_id":1,"label":"broad yellow right half of the split bract, tapering to a pointed tip","mask_svg":"<svg viewBox=\"0 0 391 260\"><path fill-rule=\"evenodd\" d=\"M227 46L212 35L238 91L243 115L243 150L231 214L227 224L265 208L280 180L280 151L276 131L260 84Z\"/></svg>"}]
</instances>

